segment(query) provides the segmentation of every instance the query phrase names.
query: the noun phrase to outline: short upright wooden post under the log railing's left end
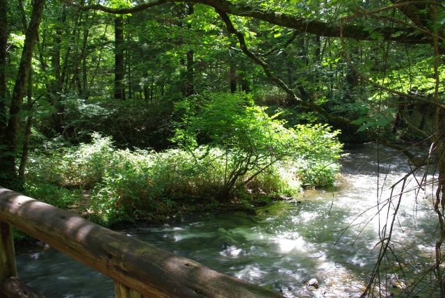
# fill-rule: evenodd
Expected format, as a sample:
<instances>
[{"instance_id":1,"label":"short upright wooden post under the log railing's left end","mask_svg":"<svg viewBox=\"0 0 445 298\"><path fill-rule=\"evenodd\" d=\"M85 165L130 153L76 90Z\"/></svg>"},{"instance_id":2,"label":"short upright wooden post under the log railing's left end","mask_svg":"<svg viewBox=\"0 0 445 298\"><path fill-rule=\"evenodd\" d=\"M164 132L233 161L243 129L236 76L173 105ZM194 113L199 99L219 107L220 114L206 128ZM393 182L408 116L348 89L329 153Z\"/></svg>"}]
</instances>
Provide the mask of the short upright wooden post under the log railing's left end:
<instances>
[{"instance_id":1,"label":"short upright wooden post under the log railing's left end","mask_svg":"<svg viewBox=\"0 0 445 298\"><path fill-rule=\"evenodd\" d=\"M0 281L10 276L17 276L13 231L0 219Z\"/></svg>"}]
</instances>

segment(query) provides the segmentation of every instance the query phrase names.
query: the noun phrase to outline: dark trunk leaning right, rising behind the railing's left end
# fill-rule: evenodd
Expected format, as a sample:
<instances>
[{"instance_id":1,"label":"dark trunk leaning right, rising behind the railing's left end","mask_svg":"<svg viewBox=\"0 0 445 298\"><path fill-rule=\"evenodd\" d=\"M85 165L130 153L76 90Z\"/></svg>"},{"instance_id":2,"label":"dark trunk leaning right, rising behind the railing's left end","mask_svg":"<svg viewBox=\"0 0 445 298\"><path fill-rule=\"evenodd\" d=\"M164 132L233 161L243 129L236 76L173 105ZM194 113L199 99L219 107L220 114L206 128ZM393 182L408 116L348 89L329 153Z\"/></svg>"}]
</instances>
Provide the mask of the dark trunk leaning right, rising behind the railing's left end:
<instances>
[{"instance_id":1,"label":"dark trunk leaning right, rising behind the railing's left end","mask_svg":"<svg viewBox=\"0 0 445 298\"><path fill-rule=\"evenodd\" d=\"M33 56L33 47L35 40L38 37L38 29L40 21L42 20L42 13L44 9L44 0L35 0L33 3L33 12L31 14L31 22L29 22L28 29L24 41L22 51L22 58L17 72L17 79L11 98L10 114L8 119L8 126L5 132L5 143L8 155L1 156L0 168L5 175L0 177L0 185L10 187L13 189L20 189L21 185L18 181L15 158L17 157L17 136L19 132L19 113L22 111L23 97L28 81L29 72L31 69L31 58Z\"/></svg>"}]
</instances>

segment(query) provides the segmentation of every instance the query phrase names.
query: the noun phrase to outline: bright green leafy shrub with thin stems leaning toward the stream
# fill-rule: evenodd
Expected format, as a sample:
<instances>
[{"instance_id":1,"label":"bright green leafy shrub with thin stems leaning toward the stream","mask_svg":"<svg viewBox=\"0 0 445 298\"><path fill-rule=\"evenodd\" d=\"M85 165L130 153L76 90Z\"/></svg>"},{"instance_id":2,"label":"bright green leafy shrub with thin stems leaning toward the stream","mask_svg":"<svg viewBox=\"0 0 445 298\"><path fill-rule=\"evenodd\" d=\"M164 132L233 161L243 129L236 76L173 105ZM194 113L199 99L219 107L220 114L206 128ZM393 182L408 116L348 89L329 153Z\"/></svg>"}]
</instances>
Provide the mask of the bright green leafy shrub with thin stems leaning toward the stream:
<instances>
[{"instance_id":1,"label":"bright green leafy shrub with thin stems leaning toward the stream","mask_svg":"<svg viewBox=\"0 0 445 298\"><path fill-rule=\"evenodd\" d=\"M243 93L195 96L179 102L176 108L181 123L173 141L189 151L201 144L223 151L223 196L280 166L298 168L303 180L313 186L324 187L334 181L341 143L335 137L339 132L330 132L327 125L285 128L284 120L275 119L279 114L268 116L264 107L255 106L252 97ZM204 151L197 159L206 155Z\"/></svg>"}]
</instances>

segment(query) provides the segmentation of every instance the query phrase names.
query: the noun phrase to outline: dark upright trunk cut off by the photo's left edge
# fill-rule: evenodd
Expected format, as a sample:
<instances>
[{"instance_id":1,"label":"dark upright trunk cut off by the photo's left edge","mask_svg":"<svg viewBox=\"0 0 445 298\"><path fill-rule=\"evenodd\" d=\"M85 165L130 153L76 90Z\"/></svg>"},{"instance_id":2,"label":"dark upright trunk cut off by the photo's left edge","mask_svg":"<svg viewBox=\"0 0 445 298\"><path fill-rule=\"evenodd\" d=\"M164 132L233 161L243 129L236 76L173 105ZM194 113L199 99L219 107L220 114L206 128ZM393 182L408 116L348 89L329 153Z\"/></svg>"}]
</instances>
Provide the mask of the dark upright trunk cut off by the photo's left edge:
<instances>
[{"instance_id":1,"label":"dark upright trunk cut off by the photo's left edge","mask_svg":"<svg viewBox=\"0 0 445 298\"><path fill-rule=\"evenodd\" d=\"M6 113L6 48L8 42L8 22L6 15L7 0L0 0L0 146L6 130L8 114ZM1 148L0 148L1 150Z\"/></svg>"}]
</instances>

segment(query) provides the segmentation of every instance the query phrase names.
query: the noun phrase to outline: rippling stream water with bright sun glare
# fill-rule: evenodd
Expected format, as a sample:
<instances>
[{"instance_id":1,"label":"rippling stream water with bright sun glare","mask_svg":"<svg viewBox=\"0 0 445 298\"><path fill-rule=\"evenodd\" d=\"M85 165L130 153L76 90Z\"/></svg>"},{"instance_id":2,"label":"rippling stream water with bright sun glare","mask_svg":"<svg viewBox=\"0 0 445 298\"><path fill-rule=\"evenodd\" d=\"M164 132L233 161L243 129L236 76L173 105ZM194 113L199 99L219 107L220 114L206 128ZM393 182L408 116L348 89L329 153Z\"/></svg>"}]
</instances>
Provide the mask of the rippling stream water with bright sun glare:
<instances>
[{"instance_id":1,"label":"rippling stream water with bright sun glare","mask_svg":"<svg viewBox=\"0 0 445 298\"><path fill-rule=\"evenodd\" d=\"M277 202L254 215L207 213L122 233L279 290L286 297L357 297L373 272L379 230L387 222L387 209L380 209L379 216L374 206L383 206L391 196L390 186L410 168L389 149L380 148L380 163L373 145L347 152L342 176L332 191L306 191L298 201ZM410 178L405 189L417 182ZM394 205L396 194L397 188ZM410 264L418 267L414 272L434 255L437 220L431 195L432 187L403 194L394 225L391 247L405 251L405 258L409 256ZM390 209L390 218L393 213ZM18 251L17 267L20 278L46 297L114 294L113 282L106 276L47 247ZM314 278L318 288L307 285ZM397 295L397 289L392 291Z\"/></svg>"}]
</instances>

